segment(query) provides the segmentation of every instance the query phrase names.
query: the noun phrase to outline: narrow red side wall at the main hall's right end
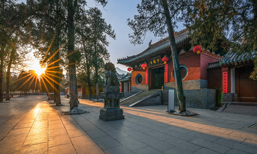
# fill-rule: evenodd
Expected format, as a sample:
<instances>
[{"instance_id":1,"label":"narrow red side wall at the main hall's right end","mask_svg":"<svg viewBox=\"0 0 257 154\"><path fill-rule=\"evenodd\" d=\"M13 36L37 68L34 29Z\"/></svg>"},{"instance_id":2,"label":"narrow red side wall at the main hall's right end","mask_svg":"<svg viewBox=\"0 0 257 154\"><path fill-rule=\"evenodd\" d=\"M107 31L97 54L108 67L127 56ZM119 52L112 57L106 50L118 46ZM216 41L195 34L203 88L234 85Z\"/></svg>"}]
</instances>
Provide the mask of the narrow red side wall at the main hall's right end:
<instances>
[{"instance_id":1,"label":"narrow red side wall at the main hall's right end","mask_svg":"<svg viewBox=\"0 0 257 154\"><path fill-rule=\"evenodd\" d=\"M200 68L201 76L200 76L200 79L208 80L207 67L208 67L209 63L217 62L218 60L214 59L213 57L211 57L207 54L203 54L203 53L200 54L200 57L201 57L201 68Z\"/></svg>"}]
</instances>

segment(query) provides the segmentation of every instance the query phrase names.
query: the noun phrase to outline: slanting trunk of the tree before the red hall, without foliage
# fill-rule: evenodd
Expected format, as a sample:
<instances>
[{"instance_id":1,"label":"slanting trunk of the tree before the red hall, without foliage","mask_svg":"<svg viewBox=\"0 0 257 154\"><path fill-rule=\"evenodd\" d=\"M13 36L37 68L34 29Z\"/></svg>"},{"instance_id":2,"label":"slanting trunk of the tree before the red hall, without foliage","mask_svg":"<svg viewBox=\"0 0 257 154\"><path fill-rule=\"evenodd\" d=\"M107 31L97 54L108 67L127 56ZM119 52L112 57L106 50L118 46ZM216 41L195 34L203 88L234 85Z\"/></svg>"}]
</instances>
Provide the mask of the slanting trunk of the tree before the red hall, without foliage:
<instances>
[{"instance_id":1,"label":"slanting trunk of the tree before the red hall, without foliage","mask_svg":"<svg viewBox=\"0 0 257 154\"><path fill-rule=\"evenodd\" d=\"M174 37L174 31L171 21L171 15L170 10L168 7L167 0L162 0L162 7L164 9L164 15L166 16L166 22L168 26L168 32L169 32L169 38L170 38L170 44L171 44L171 56L173 61L173 67L175 72L175 80L176 80L176 92L178 97L178 105L180 112L186 111L186 97L183 91L182 86L182 80L181 80L181 74L180 74L180 68L178 64L178 56L177 56L177 48L175 43L175 37Z\"/></svg>"}]
</instances>

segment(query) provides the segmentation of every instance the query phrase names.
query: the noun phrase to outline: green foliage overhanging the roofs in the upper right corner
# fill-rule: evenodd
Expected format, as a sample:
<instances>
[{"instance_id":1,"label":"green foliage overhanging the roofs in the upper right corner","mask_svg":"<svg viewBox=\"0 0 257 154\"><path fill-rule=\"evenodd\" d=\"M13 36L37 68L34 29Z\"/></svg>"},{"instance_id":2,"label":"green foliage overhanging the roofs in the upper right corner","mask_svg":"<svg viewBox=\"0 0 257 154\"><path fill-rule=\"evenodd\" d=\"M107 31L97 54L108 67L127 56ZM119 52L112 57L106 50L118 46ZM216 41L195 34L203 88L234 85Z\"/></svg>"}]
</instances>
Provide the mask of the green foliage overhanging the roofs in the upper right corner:
<instances>
[{"instance_id":1,"label":"green foliage overhanging the roofs in the upper right corner","mask_svg":"<svg viewBox=\"0 0 257 154\"><path fill-rule=\"evenodd\" d=\"M186 20L191 44L200 44L212 52L256 51L257 1L196 0L193 6L188 8ZM257 80L257 56L254 65L250 78Z\"/></svg>"}]
</instances>

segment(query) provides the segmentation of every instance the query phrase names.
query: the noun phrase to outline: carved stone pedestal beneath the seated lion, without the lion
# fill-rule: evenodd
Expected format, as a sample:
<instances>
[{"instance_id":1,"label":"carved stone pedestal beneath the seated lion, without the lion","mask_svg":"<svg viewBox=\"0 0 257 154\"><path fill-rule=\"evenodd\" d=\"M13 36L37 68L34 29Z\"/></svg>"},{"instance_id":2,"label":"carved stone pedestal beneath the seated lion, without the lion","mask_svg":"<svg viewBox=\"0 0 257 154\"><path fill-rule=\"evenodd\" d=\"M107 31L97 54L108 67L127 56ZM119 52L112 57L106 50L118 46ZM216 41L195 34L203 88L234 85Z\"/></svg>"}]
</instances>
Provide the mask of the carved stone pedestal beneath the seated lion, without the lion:
<instances>
[{"instance_id":1,"label":"carved stone pedestal beneath the seated lion, without the lion","mask_svg":"<svg viewBox=\"0 0 257 154\"><path fill-rule=\"evenodd\" d=\"M122 92L102 92L104 108L100 110L99 119L103 121L113 121L124 119L123 110L120 108L120 99L124 98Z\"/></svg>"}]
</instances>

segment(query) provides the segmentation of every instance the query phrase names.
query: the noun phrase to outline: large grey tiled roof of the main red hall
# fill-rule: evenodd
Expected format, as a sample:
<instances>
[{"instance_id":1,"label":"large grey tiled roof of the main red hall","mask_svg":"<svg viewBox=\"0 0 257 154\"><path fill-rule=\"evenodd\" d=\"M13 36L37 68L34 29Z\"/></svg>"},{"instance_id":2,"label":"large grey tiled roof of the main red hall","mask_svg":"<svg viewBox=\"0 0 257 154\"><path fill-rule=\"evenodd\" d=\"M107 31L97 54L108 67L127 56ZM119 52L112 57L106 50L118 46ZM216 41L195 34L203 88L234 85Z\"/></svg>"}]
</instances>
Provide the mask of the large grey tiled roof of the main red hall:
<instances>
[{"instance_id":1,"label":"large grey tiled roof of the main red hall","mask_svg":"<svg viewBox=\"0 0 257 154\"><path fill-rule=\"evenodd\" d=\"M179 44L182 41L186 40L189 37L188 33L189 33L188 29L183 29L183 30L177 32L176 36L175 36L176 44ZM158 51L160 51L162 49L167 49L170 46L171 45L170 45L169 37L166 37L163 40L158 41L158 42L152 44L151 47L147 48L146 50L144 50L143 52L141 52L141 53L139 53L137 55L129 56L126 59L118 60L118 63L130 63L130 62L133 62L135 60L141 59L141 58L143 58L145 56L148 56L150 54L153 54L155 52L158 52Z\"/></svg>"}]
</instances>

